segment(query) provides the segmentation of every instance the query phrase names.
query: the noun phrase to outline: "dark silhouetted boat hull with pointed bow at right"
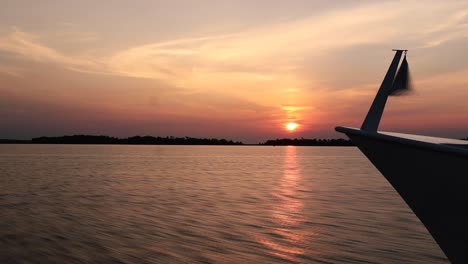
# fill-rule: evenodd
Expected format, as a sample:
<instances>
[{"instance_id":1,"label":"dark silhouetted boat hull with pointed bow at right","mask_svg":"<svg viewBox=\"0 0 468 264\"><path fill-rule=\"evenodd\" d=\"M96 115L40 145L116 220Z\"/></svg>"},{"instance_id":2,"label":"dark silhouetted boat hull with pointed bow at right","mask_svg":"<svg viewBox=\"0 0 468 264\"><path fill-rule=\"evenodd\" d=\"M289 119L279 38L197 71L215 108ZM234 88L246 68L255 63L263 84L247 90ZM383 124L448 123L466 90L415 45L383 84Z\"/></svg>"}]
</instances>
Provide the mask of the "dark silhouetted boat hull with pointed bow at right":
<instances>
[{"instance_id":1,"label":"dark silhouetted boat hull with pointed bow at right","mask_svg":"<svg viewBox=\"0 0 468 264\"><path fill-rule=\"evenodd\" d=\"M359 147L429 230L452 263L468 263L468 153L337 128Z\"/></svg>"}]
</instances>

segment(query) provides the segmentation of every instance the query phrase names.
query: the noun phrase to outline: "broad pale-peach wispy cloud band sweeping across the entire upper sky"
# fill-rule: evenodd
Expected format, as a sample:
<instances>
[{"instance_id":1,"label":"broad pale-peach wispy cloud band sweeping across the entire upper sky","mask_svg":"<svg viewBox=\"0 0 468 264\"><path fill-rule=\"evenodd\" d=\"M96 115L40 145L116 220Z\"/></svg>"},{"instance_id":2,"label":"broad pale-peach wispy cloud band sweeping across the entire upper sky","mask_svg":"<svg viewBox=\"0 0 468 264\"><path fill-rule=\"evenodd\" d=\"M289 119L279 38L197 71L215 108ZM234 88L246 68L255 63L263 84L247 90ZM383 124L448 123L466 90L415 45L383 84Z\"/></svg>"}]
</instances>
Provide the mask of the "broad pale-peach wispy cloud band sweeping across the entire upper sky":
<instances>
[{"instance_id":1,"label":"broad pale-peach wispy cloud band sweeping across the entire upper sky","mask_svg":"<svg viewBox=\"0 0 468 264\"><path fill-rule=\"evenodd\" d=\"M467 37L467 6L463 2L371 3L241 32L149 43L94 57L65 54L44 45L40 37L15 29L0 38L0 50L81 72L154 78L178 86L254 85L291 77L305 57L333 56L336 49L388 43L427 48ZM81 36L96 39L89 32ZM315 67L320 67L319 62Z\"/></svg>"}]
</instances>

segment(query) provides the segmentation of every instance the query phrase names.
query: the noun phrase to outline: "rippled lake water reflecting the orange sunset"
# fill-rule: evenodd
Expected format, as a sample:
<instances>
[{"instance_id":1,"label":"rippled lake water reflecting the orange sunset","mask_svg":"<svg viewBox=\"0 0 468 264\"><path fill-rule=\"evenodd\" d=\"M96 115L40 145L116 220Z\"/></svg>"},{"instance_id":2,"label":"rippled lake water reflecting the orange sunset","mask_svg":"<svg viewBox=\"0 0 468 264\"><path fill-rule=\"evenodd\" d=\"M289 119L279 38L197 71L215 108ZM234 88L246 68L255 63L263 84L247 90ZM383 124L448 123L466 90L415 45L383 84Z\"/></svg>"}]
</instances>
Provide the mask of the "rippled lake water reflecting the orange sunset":
<instances>
[{"instance_id":1,"label":"rippled lake water reflecting the orange sunset","mask_svg":"<svg viewBox=\"0 0 468 264\"><path fill-rule=\"evenodd\" d=\"M0 263L448 263L353 147L0 145Z\"/></svg>"}]
</instances>

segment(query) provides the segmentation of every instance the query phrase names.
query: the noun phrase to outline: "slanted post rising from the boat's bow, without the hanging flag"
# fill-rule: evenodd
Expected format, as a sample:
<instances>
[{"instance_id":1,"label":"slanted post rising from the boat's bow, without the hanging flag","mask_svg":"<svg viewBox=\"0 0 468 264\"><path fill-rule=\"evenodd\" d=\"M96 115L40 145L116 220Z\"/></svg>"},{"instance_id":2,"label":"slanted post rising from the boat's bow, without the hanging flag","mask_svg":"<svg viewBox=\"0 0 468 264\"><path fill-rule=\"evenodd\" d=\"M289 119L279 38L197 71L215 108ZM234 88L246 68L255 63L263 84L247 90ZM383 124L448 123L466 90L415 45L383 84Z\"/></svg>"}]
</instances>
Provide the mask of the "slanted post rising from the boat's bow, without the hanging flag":
<instances>
[{"instance_id":1,"label":"slanted post rising from the boat's bow, without the hanging flag","mask_svg":"<svg viewBox=\"0 0 468 264\"><path fill-rule=\"evenodd\" d=\"M377 132L377 129L380 124L380 119L382 119L382 114L387 103L387 98L390 94L390 91L393 86L393 81L397 73L398 64L400 63L401 55L403 52L406 55L408 50L394 49L395 56L393 57L392 63L388 68L387 74L380 85L379 91L372 102L372 105L367 113L366 119L362 123L361 130L369 132Z\"/></svg>"}]
</instances>

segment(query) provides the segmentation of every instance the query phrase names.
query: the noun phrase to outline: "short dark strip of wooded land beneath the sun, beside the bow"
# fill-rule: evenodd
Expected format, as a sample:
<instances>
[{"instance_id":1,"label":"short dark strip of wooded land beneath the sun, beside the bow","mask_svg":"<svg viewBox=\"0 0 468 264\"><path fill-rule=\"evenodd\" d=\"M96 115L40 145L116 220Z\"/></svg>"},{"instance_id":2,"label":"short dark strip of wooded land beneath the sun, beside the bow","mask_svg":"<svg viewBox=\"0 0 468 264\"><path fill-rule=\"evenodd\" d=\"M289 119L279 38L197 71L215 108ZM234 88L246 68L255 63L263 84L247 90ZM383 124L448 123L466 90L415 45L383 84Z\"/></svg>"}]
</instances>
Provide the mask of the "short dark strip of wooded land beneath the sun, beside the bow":
<instances>
[{"instance_id":1,"label":"short dark strip of wooded land beneath the sun, beside the bow","mask_svg":"<svg viewBox=\"0 0 468 264\"><path fill-rule=\"evenodd\" d=\"M283 139L270 139L260 145L268 146L354 146L351 140L347 139L307 139L307 138L283 138Z\"/></svg>"}]
</instances>

